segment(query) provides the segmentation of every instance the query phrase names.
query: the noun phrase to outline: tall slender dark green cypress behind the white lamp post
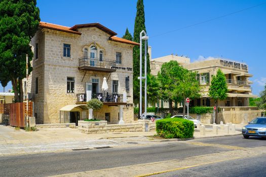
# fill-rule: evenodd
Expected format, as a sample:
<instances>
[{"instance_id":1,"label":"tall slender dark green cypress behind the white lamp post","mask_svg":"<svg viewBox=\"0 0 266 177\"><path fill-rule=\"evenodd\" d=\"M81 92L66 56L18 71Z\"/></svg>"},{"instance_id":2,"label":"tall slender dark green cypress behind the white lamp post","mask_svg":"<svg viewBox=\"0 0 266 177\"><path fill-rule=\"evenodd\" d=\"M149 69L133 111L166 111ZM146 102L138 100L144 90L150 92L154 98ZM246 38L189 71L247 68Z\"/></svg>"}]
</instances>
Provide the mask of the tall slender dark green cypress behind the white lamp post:
<instances>
[{"instance_id":1,"label":"tall slender dark green cypress behind the white lamp post","mask_svg":"<svg viewBox=\"0 0 266 177\"><path fill-rule=\"evenodd\" d=\"M139 33L142 30L144 30L146 32L144 5L143 5L143 0L138 0L137 1L137 13L136 13L136 17L135 17L133 41L138 42L138 43L140 42L139 41L139 37L140 37ZM139 61L140 61L139 53L140 53L139 47L135 46L133 48L133 83L136 84L136 85L134 85L134 89L133 89L134 100L139 99L139 94L137 94L139 92L139 81L138 81ZM142 73L144 74L144 45L142 45ZM147 75L149 73L150 73L149 55L147 54Z\"/></svg>"}]
</instances>

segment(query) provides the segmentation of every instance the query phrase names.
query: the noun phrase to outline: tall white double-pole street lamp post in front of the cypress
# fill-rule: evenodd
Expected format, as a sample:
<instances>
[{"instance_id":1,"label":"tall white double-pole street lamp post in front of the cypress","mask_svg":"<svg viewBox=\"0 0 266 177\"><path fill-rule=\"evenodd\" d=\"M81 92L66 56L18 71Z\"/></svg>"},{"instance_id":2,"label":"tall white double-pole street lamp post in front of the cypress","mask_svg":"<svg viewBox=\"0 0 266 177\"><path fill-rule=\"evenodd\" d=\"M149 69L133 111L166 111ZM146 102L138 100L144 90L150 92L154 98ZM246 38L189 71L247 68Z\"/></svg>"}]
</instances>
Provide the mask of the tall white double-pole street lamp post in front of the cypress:
<instances>
[{"instance_id":1,"label":"tall white double-pole street lamp post in front of the cypress","mask_svg":"<svg viewBox=\"0 0 266 177\"><path fill-rule=\"evenodd\" d=\"M144 35L142 36L142 34ZM144 56L144 77L142 77L142 40L145 40L145 56ZM140 41L140 46L139 46L139 58L140 58L140 63L139 63L139 115L142 115L142 79L145 79L145 89L144 89L144 119L146 117L147 113L147 40L148 36L144 30L142 30L139 34L139 41Z\"/></svg>"}]
</instances>

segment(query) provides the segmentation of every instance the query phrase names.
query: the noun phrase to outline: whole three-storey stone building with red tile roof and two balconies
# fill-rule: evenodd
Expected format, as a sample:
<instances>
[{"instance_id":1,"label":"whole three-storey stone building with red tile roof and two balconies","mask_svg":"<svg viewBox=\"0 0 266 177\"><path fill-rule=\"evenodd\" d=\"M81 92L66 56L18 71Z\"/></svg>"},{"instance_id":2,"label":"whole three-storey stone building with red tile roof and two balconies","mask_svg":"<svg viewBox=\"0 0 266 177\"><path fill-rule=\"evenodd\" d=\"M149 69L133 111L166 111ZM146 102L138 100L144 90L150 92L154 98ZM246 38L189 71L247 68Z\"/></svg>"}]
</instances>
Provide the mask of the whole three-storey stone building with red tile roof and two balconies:
<instances>
[{"instance_id":1,"label":"whole three-storey stone building with red tile roof and two balconies","mask_svg":"<svg viewBox=\"0 0 266 177\"><path fill-rule=\"evenodd\" d=\"M36 123L77 124L92 117L86 106L91 98L103 102L101 110L93 112L95 118L98 114L109 123L133 120L133 47L139 43L116 35L99 23L66 27L40 22L31 39L34 58L28 83Z\"/></svg>"}]
</instances>

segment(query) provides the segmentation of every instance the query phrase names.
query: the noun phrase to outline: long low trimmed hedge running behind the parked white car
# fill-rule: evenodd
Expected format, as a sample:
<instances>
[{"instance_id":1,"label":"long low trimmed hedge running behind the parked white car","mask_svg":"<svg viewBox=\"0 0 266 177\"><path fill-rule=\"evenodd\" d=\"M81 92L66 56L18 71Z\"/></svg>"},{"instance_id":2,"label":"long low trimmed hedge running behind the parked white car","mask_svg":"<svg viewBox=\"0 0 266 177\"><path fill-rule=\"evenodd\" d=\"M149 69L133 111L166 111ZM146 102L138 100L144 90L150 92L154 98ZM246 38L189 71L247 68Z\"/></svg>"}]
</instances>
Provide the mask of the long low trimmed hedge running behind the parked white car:
<instances>
[{"instance_id":1,"label":"long low trimmed hedge running behind the parked white car","mask_svg":"<svg viewBox=\"0 0 266 177\"><path fill-rule=\"evenodd\" d=\"M206 113L213 113L213 107L201 107L201 106L195 106L195 107L189 107L189 113L192 114L206 114ZM173 110L183 113L183 107L180 108L173 108ZM150 107L147 108L147 112L154 112L157 113L157 107ZM187 111L187 109L185 109ZM139 112L138 108L134 108L134 114L137 114ZM169 108L159 108L160 113L168 113Z\"/></svg>"}]
</instances>

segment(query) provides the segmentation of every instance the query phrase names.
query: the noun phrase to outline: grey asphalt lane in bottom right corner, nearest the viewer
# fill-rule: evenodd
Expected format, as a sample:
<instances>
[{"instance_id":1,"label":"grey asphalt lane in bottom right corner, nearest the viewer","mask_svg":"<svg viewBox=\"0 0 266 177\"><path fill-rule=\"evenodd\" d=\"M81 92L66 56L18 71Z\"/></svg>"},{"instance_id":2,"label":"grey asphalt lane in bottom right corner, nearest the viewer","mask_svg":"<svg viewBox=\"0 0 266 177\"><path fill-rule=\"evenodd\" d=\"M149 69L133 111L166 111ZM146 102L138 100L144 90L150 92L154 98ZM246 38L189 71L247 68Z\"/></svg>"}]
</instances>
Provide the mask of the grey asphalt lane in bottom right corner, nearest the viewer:
<instances>
[{"instance_id":1,"label":"grey asphalt lane in bottom right corner, nearest the viewer","mask_svg":"<svg viewBox=\"0 0 266 177\"><path fill-rule=\"evenodd\" d=\"M201 177L201 176L241 176L241 177L264 177L266 155L230 160L225 162L202 165L183 170L153 175L153 177Z\"/></svg>"}]
</instances>

